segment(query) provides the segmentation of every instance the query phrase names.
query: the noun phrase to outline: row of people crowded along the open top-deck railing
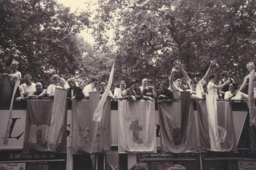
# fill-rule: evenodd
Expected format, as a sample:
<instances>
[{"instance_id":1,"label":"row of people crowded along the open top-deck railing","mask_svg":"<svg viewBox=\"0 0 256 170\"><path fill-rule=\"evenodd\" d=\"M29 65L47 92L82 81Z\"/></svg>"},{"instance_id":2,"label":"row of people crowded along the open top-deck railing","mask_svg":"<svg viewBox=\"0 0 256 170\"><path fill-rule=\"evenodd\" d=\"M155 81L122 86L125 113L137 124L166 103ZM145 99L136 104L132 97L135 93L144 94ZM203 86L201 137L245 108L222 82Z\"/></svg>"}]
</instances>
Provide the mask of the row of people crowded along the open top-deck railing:
<instances>
[{"instance_id":1,"label":"row of people crowded along the open top-deck railing","mask_svg":"<svg viewBox=\"0 0 256 170\"><path fill-rule=\"evenodd\" d=\"M171 70L169 80L160 82L160 88L155 88L154 82L151 79L143 78L141 86L139 81L132 79L129 82L129 87L125 80L119 82L119 86L113 88L113 91L109 91L108 98L110 99L128 99L137 101L140 99L154 100L154 99L180 99L180 94L183 91L190 92L191 99L205 99L205 95L211 99L231 99L241 100L248 99L248 95L241 92L248 78L244 79L242 86L238 87L238 84L230 78L228 71L223 71L222 78L218 82L216 75L212 73L214 67L219 67L216 61L210 62L210 67L206 71L205 75L201 78L200 73L195 73L191 79L180 61L175 61L175 66ZM247 65L255 69L254 63ZM3 59L0 59L0 73L10 75L12 83L19 79L23 80L23 83L18 86L16 91L16 101L20 101L26 98L35 97L54 97L55 88L65 88L68 90L67 97L70 99L83 99L89 97L89 92L99 91L102 95L106 88L106 82L100 82L96 78L91 78L91 83L87 84L83 89L77 85L74 78L69 78L67 81L60 78L59 75L54 74L51 76L51 84L47 88L43 88L42 82L33 82L30 74L25 74L23 77L18 69L18 61L12 61L10 69L5 67ZM180 71L183 78L176 75L177 71ZM182 88L182 79L186 80L187 89ZM208 82L208 83L207 83ZM255 90L256 93L256 90Z\"/></svg>"}]
</instances>

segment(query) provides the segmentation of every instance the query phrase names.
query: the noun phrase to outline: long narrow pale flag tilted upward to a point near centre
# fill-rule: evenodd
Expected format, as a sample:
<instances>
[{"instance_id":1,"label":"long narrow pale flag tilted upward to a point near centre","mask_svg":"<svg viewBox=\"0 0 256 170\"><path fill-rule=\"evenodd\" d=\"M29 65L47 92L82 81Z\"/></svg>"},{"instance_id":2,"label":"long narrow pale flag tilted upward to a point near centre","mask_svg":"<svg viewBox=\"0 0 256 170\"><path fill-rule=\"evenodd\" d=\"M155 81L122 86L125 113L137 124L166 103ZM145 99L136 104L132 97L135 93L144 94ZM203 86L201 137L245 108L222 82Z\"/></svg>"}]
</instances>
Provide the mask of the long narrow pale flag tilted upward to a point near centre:
<instances>
[{"instance_id":1,"label":"long narrow pale flag tilted upward to a point near centre","mask_svg":"<svg viewBox=\"0 0 256 170\"><path fill-rule=\"evenodd\" d=\"M106 97L108 97L108 95L109 95L109 90L110 90L112 82L113 82L114 68L115 68L115 61L113 62L111 73L109 75L109 82L106 85L106 89L105 89L105 91L104 91L104 93L103 93L103 95L100 99L100 102L98 103L98 106L96 107L96 109L94 111L93 120L96 121L96 122L100 122L100 120L102 118L103 106L104 106L104 103L106 101Z\"/></svg>"}]
</instances>

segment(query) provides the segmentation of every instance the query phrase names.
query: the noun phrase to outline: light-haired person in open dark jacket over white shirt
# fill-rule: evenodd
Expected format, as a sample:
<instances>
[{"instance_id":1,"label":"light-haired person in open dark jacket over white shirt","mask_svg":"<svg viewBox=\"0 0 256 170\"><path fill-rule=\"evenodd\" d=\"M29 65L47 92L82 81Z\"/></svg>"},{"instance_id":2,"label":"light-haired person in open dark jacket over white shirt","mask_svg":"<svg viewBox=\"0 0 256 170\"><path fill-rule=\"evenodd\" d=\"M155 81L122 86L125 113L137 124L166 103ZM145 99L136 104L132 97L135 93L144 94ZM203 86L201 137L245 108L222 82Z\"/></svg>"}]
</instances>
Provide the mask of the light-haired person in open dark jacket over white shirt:
<instances>
[{"instance_id":1,"label":"light-haired person in open dark jacket over white shirt","mask_svg":"<svg viewBox=\"0 0 256 170\"><path fill-rule=\"evenodd\" d=\"M77 99L81 100L83 99L83 90L81 87L76 86L76 82L74 81L74 78L69 78L67 80L68 85L70 86L67 91L67 97L70 97L71 100Z\"/></svg>"}]
</instances>

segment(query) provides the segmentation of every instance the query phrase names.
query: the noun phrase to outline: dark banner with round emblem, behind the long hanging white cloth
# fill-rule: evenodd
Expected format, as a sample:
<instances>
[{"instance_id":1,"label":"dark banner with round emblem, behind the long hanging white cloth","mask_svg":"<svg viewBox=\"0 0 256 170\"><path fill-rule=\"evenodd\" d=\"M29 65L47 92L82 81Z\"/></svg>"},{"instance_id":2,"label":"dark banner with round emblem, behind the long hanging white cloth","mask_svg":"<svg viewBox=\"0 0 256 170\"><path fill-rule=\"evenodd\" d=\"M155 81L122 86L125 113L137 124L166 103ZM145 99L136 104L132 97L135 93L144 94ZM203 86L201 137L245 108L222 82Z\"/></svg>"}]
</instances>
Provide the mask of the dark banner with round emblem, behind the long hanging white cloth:
<instances>
[{"instance_id":1,"label":"dark banner with round emblem, behind the long hanging white cloth","mask_svg":"<svg viewBox=\"0 0 256 170\"><path fill-rule=\"evenodd\" d=\"M236 151L236 135L233 126L233 115L230 101L217 101L217 124L220 148L212 147L210 144L209 116L205 101L197 101L197 112L199 122L200 151L212 150L218 152Z\"/></svg>"}]
</instances>

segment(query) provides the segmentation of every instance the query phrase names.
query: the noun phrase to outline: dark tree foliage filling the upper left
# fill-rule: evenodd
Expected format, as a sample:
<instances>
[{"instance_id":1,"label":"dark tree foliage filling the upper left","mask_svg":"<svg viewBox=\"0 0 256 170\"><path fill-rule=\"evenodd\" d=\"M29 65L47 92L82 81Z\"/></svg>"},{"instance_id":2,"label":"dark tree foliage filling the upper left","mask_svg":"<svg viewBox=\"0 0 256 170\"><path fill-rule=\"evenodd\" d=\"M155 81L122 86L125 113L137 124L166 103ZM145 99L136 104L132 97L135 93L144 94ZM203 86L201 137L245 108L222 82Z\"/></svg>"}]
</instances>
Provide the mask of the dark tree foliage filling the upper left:
<instances>
[{"instance_id":1,"label":"dark tree foliage filling the upper left","mask_svg":"<svg viewBox=\"0 0 256 170\"><path fill-rule=\"evenodd\" d=\"M83 56L77 33L89 24L88 17L54 0L1 0L1 58L7 64L16 59L22 73L46 83L53 72L74 75Z\"/></svg>"}]
</instances>

